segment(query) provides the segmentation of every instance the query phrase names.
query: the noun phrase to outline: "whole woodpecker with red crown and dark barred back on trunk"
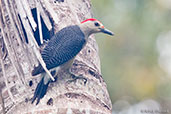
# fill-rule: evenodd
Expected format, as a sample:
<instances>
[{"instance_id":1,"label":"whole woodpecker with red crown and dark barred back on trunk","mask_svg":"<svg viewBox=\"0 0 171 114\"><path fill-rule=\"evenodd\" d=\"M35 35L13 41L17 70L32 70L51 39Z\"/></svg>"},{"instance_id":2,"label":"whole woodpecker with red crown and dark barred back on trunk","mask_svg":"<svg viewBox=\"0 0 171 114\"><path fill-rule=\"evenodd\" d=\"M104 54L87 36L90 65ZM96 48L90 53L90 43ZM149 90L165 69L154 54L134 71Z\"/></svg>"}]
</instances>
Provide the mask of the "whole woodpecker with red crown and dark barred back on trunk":
<instances>
[{"instance_id":1,"label":"whole woodpecker with red crown and dark barred back on trunk","mask_svg":"<svg viewBox=\"0 0 171 114\"><path fill-rule=\"evenodd\" d=\"M100 21L94 18L87 19L78 25L71 25L61 29L49 40L41 52L47 69L50 70L51 73L53 72L53 76L58 73L59 69L69 71L74 58L86 45L89 36L93 33L100 32L114 35L111 31L107 30ZM71 72L69 71L69 73ZM46 94L48 84L51 82L49 75L46 74L41 64L32 71L32 76L38 74L42 75L42 79L38 83L32 98L32 103L34 103L37 98L36 105ZM79 76L75 77L75 79L81 79Z\"/></svg>"}]
</instances>

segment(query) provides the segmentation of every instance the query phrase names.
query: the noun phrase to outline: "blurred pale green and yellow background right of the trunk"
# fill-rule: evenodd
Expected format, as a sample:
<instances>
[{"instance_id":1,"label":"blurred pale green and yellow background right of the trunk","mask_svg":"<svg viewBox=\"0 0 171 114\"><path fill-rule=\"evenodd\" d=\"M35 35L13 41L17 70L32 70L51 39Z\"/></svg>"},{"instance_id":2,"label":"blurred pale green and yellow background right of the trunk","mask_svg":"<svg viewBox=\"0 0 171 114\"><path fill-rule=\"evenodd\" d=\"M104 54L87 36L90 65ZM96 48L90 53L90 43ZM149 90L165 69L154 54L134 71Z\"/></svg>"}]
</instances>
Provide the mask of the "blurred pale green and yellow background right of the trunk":
<instances>
[{"instance_id":1,"label":"blurred pale green and yellow background right of the trunk","mask_svg":"<svg viewBox=\"0 0 171 114\"><path fill-rule=\"evenodd\" d=\"M167 41L171 39L171 0L91 2L94 16L115 33L114 37L96 35L113 107L120 111L115 105L118 101L131 106L151 99L171 113L171 66L167 54L171 48L167 48L166 56L162 55L166 50L163 46L171 45ZM169 38L162 41L166 36Z\"/></svg>"}]
</instances>

